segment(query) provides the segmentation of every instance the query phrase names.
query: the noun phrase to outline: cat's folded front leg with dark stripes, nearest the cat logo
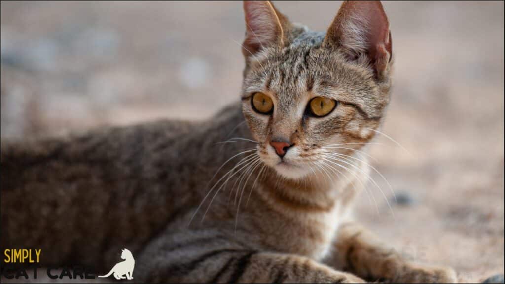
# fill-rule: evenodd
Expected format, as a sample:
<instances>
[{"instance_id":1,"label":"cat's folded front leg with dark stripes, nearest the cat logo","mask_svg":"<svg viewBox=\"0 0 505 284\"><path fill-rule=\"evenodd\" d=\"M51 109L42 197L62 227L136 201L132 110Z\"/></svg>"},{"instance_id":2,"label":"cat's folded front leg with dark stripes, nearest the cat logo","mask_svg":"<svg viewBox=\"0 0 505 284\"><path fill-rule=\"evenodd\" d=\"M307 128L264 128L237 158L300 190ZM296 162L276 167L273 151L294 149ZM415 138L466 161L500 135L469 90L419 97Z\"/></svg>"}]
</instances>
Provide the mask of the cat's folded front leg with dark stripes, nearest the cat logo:
<instances>
[{"instance_id":1,"label":"cat's folded front leg with dark stripes, nearest the cat logo","mask_svg":"<svg viewBox=\"0 0 505 284\"><path fill-rule=\"evenodd\" d=\"M205 232L160 238L137 263L142 282L364 282L310 258L260 252Z\"/></svg>"}]
</instances>

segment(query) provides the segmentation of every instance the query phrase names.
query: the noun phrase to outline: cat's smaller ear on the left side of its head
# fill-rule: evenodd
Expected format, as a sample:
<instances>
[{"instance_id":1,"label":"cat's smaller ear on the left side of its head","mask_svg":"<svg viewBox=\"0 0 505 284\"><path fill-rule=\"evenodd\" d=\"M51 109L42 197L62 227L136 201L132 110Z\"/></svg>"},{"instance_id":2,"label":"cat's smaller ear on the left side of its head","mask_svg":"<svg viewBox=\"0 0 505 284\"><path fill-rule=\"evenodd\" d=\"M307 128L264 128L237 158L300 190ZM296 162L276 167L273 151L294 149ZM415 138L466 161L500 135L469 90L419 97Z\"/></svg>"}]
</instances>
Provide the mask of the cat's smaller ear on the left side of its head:
<instances>
[{"instance_id":1,"label":"cat's smaller ear on the left side of its head","mask_svg":"<svg viewBox=\"0 0 505 284\"><path fill-rule=\"evenodd\" d=\"M283 44L287 18L270 1L244 1L245 39L242 53L255 55L269 46Z\"/></svg>"}]
</instances>

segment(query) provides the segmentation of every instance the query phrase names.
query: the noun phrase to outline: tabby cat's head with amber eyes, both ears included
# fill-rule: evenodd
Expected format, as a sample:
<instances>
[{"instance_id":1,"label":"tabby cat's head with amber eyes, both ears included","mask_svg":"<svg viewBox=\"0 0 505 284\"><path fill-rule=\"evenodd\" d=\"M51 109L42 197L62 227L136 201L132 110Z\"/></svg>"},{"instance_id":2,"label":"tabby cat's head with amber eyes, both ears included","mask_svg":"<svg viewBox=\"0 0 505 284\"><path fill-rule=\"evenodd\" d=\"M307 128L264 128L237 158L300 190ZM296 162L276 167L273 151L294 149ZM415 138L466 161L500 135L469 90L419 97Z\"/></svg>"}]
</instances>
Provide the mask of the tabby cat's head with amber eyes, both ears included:
<instances>
[{"instance_id":1,"label":"tabby cat's head with amber eyes, both ears included","mask_svg":"<svg viewBox=\"0 0 505 284\"><path fill-rule=\"evenodd\" d=\"M345 2L326 32L289 22L270 2L243 6L242 111L263 162L297 179L345 158L335 153L353 155L389 101L391 35L380 2Z\"/></svg>"}]
</instances>

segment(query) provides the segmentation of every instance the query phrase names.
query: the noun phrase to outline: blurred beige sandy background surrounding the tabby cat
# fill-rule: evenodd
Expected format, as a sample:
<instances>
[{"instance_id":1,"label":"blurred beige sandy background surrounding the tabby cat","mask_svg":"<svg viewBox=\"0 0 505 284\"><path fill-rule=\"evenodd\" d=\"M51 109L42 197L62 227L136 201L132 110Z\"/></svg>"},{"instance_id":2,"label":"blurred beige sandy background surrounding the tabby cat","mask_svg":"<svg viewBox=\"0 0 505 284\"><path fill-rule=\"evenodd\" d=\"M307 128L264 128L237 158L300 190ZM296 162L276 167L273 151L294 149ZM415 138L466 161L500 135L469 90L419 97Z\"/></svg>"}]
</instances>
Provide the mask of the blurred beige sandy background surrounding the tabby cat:
<instances>
[{"instance_id":1,"label":"blurred beige sandy background surrounding the tabby cat","mask_svg":"<svg viewBox=\"0 0 505 284\"><path fill-rule=\"evenodd\" d=\"M279 2L326 30L341 2ZM503 2L384 3L394 86L356 218L461 281L503 273ZM238 100L239 2L2 2L2 138L160 118ZM371 201L372 200L372 201ZM391 204L389 209L386 200ZM391 213L392 211L392 213Z\"/></svg>"}]
</instances>

